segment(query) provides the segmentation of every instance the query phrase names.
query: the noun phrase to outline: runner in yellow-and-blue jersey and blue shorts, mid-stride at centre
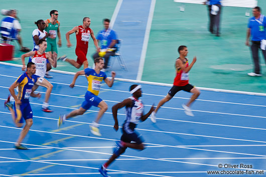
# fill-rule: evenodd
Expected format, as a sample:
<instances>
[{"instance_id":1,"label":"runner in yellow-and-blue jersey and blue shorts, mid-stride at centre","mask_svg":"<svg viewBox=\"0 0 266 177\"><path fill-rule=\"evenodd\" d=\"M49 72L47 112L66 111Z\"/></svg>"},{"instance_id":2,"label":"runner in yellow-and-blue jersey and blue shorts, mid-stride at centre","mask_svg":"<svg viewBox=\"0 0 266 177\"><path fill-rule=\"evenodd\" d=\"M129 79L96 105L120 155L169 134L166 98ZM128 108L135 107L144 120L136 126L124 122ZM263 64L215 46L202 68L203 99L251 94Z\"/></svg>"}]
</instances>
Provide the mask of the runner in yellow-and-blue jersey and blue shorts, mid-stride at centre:
<instances>
[{"instance_id":1,"label":"runner in yellow-and-blue jersey and blue shorts, mid-stride at centre","mask_svg":"<svg viewBox=\"0 0 266 177\"><path fill-rule=\"evenodd\" d=\"M108 109L107 104L98 97L99 91L100 91L100 84L102 81L104 81L109 87L112 87L114 77L115 77L115 72L111 72L112 74L112 79L109 80L106 76L106 74L102 71L104 66L104 61L102 58L96 58L94 60L95 64L95 69L90 69L86 68L82 71L79 71L75 74L72 83L69 85L69 87L73 88L75 86L76 79L80 75L86 76L88 80L88 90L85 94L85 101L82 103L81 107L77 110L74 110L70 112L69 114L61 114L58 119L58 126L60 127L65 120L77 116L77 115L82 115L88 110L91 106L99 107L100 110L98 112L98 115L96 117L96 120L92 122L92 125L90 125L90 130L92 134L96 136L101 136L99 128L98 128L98 123L100 121L100 118L104 114L104 112Z\"/></svg>"}]
</instances>

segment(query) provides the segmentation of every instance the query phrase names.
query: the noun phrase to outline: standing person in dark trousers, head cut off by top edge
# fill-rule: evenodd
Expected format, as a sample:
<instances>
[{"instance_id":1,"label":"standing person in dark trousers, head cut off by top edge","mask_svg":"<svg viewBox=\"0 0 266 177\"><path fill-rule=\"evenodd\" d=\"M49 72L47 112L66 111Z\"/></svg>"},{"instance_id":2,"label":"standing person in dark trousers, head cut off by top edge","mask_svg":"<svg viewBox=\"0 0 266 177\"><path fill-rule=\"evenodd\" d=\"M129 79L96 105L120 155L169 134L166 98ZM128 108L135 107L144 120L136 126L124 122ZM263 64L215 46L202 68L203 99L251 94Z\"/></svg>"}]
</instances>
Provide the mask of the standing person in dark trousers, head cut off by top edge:
<instances>
[{"instance_id":1,"label":"standing person in dark trousers, head cut off by top edge","mask_svg":"<svg viewBox=\"0 0 266 177\"><path fill-rule=\"evenodd\" d=\"M209 31L212 34L216 34L216 36L220 36L220 15L222 8L221 2L220 0L207 0L204 5L206 4L209 5Z\"/></svg>"}]
</instances>

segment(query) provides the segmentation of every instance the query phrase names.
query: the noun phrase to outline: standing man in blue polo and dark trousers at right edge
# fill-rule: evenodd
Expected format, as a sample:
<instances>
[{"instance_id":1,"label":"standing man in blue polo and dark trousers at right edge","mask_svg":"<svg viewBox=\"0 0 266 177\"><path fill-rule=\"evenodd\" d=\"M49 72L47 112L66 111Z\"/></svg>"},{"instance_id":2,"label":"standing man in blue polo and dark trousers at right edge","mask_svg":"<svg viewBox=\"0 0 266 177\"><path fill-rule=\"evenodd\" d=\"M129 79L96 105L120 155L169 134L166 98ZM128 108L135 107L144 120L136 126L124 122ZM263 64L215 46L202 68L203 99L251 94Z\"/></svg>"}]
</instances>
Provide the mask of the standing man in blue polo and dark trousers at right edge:
<instances>
[{"instance_id":1,"label":"standing man in blue polo and dark trousers at right edge","mask_svg":"<svg viewBox=\"0 0 266 177\"><path fill-rule=\"evenodd\" d=\"M247 32L246 32L246 46L249 45L249 37L251 38L251 53L254 62L254 72L247 73L249 76L261 76L259 67L258 50L261 49L263 57L266 61L266 17L260 14L260 8L255 7L252 10L253 16L248 21Z\"/></svg>"}]
</instances>

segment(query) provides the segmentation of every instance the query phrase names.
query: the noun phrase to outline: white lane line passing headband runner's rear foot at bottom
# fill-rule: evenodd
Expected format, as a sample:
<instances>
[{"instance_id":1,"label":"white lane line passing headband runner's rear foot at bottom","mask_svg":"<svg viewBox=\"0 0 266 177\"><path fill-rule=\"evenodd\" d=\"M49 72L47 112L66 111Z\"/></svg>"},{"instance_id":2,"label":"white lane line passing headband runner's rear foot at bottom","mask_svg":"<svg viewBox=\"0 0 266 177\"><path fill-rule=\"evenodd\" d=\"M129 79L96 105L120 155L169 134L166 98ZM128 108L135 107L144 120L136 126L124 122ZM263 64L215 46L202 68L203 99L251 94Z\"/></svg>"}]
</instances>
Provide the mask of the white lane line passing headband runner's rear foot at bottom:
<instances>
[{"instance_id":1,"label":"white lane line passing headband runner's rear foot at bottom","mask_svg":"<svg viewBox=\"0 0 266 177\"><path fill-rule=\"evenodd\" d=\"M13 159L13 160L24 160L24 159L20 159L20 158L11 158L11 157L3 157L3 156L0 156L0 158ZM29 160L29 159L25 159L25 160L26 161L31 161L31 162L38 162L38 163L47 163L47 164L72 166L72 167L80 167L80 168L89 168L89 169L97 169L97 170L99 169L99 168L89 167L89 166L71 165L71 164L54 163L54 162L39 161L39 160ZM143 172L115 170L115 169L108 169L108 171L125 172L125 173L132 173L132 174L144 174L144 175L150 175L150 176L174 177L174 176L166 176L166 175L149 174L149 173L143 173Z\"/></svg>"}]
</instances>

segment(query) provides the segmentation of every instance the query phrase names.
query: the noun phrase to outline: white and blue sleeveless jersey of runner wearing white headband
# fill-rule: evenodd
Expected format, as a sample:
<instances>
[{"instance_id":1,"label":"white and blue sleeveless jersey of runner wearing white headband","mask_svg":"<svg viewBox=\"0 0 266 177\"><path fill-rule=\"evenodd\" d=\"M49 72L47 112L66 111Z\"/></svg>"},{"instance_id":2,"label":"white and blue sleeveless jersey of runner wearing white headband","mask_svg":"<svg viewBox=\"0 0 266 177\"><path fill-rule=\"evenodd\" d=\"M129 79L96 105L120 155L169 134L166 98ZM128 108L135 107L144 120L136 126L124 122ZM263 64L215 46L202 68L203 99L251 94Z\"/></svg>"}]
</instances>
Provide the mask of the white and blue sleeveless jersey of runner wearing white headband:
<instances>
[{"instance_id":1,"label":"white and blue sleeveless jersey of runner wearing white headband","mask_svg":"<svg viewBox=\"0 0 266 177\"><path fill-rule=\"evenodd\" d=\"M143 115L144 106L142 104L142 100L137 100L132 96L129 98L132 100L132 105L125 108L126 117L123 126L127 133L132 133L132 130L134 130L137 124L140 122L140 119Z\"/></svg>"}]
</instances>

